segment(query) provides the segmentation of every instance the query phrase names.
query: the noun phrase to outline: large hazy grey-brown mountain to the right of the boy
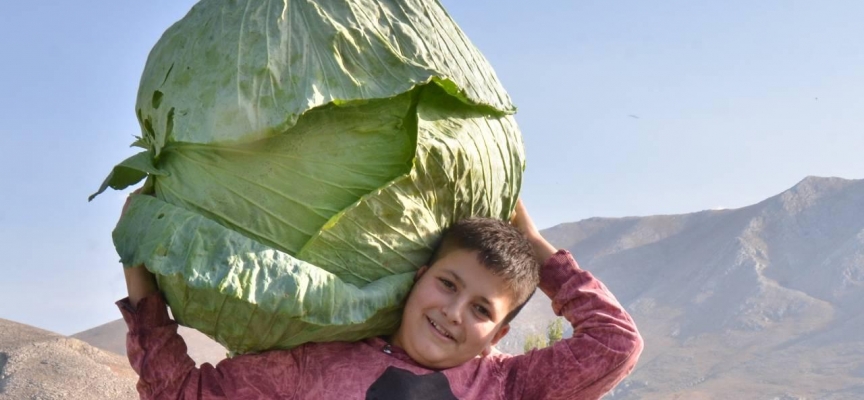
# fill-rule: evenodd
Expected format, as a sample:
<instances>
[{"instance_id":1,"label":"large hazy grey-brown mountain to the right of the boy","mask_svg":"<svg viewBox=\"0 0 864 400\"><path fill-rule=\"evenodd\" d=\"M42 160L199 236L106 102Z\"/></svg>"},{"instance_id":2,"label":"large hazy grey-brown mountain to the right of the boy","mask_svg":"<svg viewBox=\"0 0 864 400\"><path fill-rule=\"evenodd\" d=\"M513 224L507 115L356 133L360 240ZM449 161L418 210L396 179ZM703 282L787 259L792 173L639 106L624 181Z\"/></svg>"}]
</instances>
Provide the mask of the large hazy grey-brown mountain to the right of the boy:
<instances>
[{"instance_id":1,"label":"large hazy grey-brown mountain to the right of the boy","mask_svg":"<svg viewBox=\"0 0 864 400\"><path fill-rule=\"evenodd\" d=\"M749 207L543 234L607 284L645 338L607 398L864 398L864 180L808 177ZM540 329L545 312L526 319Z\"/></svg>"}]
</instances>

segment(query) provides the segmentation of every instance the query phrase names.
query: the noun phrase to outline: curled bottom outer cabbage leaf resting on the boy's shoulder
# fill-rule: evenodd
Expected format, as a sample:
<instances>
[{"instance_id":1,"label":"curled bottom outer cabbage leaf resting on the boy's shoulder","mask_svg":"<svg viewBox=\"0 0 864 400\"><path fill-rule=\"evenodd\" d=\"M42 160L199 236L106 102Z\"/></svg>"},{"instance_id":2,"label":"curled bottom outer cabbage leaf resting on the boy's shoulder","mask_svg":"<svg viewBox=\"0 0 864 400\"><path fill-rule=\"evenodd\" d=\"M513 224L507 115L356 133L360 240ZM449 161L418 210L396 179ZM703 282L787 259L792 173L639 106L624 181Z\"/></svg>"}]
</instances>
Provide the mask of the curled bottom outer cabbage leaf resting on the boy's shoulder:
<instances>
[{"instance_id":1,"label":"curled bottom outer cabbage leaf resting on the boy's shoulder","mask_svg":"<svg viewBox=\"0 0 864 400\"><path fill-rule=\"evenodd\" d=\"M246 353L382 335L398 325L413 273L362 288L151 196L114 231L121 261L158 277L178 322Z\"/></svg>"}]
</instances>

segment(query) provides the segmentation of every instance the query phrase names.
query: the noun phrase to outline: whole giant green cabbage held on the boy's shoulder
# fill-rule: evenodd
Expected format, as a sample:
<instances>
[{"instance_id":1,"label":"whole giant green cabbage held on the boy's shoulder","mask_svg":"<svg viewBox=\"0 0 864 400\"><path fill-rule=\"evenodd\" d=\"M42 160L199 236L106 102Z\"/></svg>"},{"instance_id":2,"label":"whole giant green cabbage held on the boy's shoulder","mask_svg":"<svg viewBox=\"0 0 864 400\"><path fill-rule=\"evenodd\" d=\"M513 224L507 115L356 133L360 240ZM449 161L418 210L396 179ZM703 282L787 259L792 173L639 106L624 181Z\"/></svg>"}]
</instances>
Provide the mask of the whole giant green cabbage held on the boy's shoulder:
<instances>
[{"instance_id":1,"label":"whole giant green cabbage held on the boy's shoulder","mask_svg":"<svg viewBox=\"0 0 864 400\"><path fill-rule=\"evenodd\" d=\"M144 151L98 193L146 178L114 242L180 323L236 353L357 340L398 326L445 227L510 215L514 112L437 2L204 0L151 51Z\"/></svg>"}]
</instances>

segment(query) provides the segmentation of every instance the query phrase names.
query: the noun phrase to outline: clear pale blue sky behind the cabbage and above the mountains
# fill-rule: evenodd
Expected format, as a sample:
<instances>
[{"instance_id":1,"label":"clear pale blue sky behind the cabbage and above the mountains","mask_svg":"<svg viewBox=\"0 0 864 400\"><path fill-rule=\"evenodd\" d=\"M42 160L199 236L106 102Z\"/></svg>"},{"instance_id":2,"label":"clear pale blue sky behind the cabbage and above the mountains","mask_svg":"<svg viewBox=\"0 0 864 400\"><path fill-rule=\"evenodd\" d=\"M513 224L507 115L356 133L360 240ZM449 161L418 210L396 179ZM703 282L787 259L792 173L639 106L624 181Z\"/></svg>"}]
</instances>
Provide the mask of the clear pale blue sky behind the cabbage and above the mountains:
<instances>
[{"instance_id":1,"label":"clear pale blue sky behind the cabbage and above the mountains","mask_svg":"<svg viewBox=\"0 0 864 400\"><path fill-rule=\"evenodd\" d=\"M0 2L0 318L120 318L126 193L87 196L135 153L147 54L194 3ZM442 3L519 108L541 227L864 178L864 2Z\"/></svg>"}]
</instances>

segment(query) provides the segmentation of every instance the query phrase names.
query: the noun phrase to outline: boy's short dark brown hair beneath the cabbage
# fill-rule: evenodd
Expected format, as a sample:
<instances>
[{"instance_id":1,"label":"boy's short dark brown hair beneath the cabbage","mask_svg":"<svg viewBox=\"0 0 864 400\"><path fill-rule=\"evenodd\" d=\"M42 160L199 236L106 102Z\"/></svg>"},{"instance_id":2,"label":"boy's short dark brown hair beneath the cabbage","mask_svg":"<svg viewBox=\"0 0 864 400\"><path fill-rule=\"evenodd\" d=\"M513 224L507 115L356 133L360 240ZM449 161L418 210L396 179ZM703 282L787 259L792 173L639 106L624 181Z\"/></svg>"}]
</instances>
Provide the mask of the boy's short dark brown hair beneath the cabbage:
<instances>
[{"instance_id":1,"label":"boy's short dark brown hair beneath the cabbage","mask_svg":"<svg viewBox=\"0 0 864 400\"><path fill-rule=\"evenodd\" d=\"M514 307L504 318L510 323L540 283L540 264L528 239L507 222L491 218L468 218L447 228L429 259L429 266L453 250L477 252L477 261L504 279Z\"/></svg>"}]
</instances>

